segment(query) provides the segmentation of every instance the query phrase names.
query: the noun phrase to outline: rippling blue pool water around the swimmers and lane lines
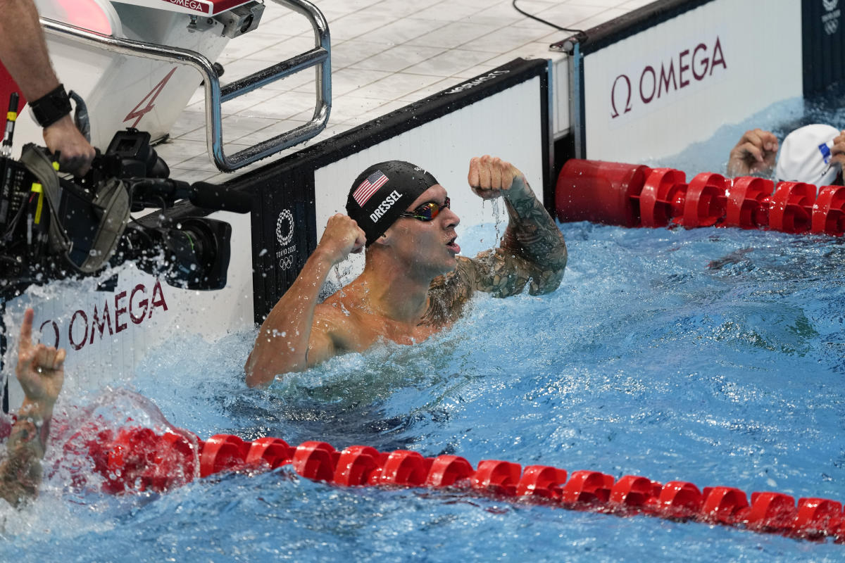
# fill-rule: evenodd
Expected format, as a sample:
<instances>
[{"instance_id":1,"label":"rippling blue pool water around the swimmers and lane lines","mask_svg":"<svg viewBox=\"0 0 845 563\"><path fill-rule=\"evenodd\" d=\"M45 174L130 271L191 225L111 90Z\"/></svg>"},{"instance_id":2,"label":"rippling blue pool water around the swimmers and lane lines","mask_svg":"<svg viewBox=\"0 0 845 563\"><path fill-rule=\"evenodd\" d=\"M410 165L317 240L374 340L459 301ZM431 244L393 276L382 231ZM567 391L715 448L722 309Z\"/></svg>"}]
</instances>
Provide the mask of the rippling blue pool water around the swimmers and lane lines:
<instances>
[{"instance_id":1,"label":"rippling blue pool water around the swimmers and lane lines","mask_svg":"<svg viewBox=\"0 0 845 563\"><path fill-rule=\"evenodd\" d=\"M746 126L717 138L732 145ZM694 172L697 158L675 162ZM164 424L161 409L203 437L364 444L845 500L842 241L561 229L570 264L559 290L479 295L453 330L424 344L345 355L251 390L241 366L254 331L215 343L188 336L156 349L115 389L66 395L64 409L150 426ZM472 254L495 236L493 227L466 230L461 246ZM289 468L115 497L69 487L68 464L85 462L58 457L53 447L47 465L58 470L33 505L0 507L0 560L845 557L831 542L455 491L344 489Z\"/></svg>"}]
</instances>

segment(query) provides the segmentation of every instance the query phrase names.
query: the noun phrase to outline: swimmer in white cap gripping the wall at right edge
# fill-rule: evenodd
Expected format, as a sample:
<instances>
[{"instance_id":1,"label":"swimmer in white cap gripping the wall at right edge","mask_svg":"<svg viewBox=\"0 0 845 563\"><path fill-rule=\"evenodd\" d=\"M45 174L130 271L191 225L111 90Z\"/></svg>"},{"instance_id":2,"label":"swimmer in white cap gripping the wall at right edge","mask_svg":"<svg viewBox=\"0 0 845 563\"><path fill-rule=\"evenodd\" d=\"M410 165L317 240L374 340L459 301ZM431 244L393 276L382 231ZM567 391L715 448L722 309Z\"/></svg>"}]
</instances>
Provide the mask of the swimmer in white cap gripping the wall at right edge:
<instances>
[{"instance_id":1,"label":"swimmer in white cap gripping the wall at right edge","mask_svg":"<svg viewBox=\"0 0 845 563\"><path fill-rule=\"evenodd\" d=\"M770 173L776 181L803 181L815 186L842 184L845 132L830 125L813 124L795 129L783 139L780 154L774 133L746 131L728 158L728 176ZM775 157L777 155L777 165Z\"/></svg>"}]
</instances>

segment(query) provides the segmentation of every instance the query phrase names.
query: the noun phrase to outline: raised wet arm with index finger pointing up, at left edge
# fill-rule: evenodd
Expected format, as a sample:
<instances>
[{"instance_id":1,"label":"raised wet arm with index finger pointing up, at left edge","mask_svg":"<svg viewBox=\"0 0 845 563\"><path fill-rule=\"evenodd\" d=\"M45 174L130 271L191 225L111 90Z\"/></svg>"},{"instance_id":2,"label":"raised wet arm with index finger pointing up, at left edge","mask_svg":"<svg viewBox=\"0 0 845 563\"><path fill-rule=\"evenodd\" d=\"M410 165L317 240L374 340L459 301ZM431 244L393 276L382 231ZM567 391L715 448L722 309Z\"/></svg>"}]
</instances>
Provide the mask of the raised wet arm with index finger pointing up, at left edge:
<instances>
[{"instance_id":1,"label":"raised wet arm with index finger pointing up, at left edge","mask_svg":"<svg viewBox=\"0 0 845 563\"><path fill-rule=\"evenodd\" d=\"M0 496L14 506L38 492L52 409L64 382L65 352L32 344L33 316L32 309L27 309L20 326L15 371L25 398L6 441L6 458L0 463Z\"/></svg>"}]
</instances>

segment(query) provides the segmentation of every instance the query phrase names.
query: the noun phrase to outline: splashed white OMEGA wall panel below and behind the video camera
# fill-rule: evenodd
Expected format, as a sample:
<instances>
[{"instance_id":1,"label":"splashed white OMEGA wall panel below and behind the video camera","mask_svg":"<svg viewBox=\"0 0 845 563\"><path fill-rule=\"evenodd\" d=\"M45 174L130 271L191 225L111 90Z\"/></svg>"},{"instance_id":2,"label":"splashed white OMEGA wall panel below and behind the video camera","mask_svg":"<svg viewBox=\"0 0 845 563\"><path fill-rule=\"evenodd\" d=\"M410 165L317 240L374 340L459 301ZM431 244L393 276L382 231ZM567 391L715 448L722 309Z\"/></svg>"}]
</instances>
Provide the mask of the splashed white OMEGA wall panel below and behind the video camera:
<instances>
[{"instance_id":1,"label":"splashed white OMEGA wall panel below and behind the video camera","mask_svg":"<svg viewBox=\"0 0 845 563\"><path fill-rule=\"evenodd\" d=\"M209 217L232 225L232 258L222 290L178 289L127 266L114 277L104 274L30 286L3 304L3 325L13 335L2 362L9 383L8 406L17 408L24 397L14 365L26 307L35 309L33 328L41 332L41 342L67 350L65 367L73 376L65 379L64 388L74 395L128 382L149 350L168 340L181 343L186 337L199 338L198 334L215 339L251 326L252 264L249 252L243 252L252 246L250 215L217 212ZM172 368L178 372L176 365Z\"/></svg>"}]
</instances>

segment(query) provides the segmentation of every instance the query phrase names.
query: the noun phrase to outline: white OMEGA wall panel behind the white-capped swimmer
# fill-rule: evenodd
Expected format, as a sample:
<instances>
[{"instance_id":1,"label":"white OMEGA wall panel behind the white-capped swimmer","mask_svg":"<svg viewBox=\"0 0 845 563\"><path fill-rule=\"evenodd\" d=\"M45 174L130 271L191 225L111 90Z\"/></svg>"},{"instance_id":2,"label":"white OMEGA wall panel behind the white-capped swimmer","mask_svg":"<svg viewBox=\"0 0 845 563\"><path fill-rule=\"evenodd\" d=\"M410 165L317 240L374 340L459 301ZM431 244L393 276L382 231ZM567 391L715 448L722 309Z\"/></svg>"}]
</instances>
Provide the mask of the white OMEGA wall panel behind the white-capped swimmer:
<instances>
[{"instance_id":1,"label":"white OMEGA wall panel behind the white-capped swimmer","mask_svg":"<svg viewBox=\"0 0 845 563\"><path fill-rule=\"evenodd\" d=\"M584 43L575 135L585 158L677 154L724 123L802 95L800 41L783 41L801 34L799 0L671 4L679 12L671 19L640 29L631 18L618 41Z\"/></svg>"}]
</instances>

